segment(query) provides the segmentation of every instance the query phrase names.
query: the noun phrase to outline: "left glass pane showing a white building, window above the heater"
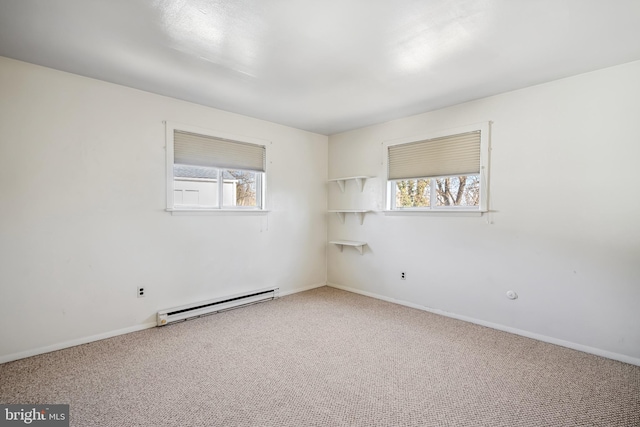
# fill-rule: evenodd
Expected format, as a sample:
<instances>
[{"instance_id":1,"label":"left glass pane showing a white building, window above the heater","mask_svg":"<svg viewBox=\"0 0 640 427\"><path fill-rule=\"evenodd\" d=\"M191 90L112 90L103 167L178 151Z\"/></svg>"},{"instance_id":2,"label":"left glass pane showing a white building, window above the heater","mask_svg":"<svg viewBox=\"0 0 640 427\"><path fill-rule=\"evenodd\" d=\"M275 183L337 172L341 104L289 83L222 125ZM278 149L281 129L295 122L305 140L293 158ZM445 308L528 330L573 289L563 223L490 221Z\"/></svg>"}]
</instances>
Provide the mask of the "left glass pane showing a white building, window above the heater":
<instances>
[{"instance_id":1,"label":"left glass pane showing a white building, window above the heater","mask_svg":"<svg viewBox=\"0 0 640 427\"><path fill-rule=\"evenodd\" d=\"M173 195L174 206L218 207L218 170L174 165Z\"/></svg>"}]
</instances>

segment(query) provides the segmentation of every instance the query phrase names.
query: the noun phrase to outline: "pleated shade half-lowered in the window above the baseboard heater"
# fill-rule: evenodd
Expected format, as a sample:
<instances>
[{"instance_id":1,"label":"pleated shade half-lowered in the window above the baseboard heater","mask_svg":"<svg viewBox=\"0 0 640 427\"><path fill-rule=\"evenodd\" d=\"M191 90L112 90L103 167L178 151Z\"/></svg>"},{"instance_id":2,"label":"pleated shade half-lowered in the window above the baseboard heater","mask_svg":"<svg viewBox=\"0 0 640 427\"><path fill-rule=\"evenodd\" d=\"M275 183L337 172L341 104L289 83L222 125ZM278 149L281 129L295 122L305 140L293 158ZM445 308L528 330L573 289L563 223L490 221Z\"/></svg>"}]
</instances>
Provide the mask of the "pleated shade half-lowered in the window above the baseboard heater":
<instances>
[{"instance_id":1,"label":"pleated shade half-lowered in the window above the baseboard heater","mask_svg":"<svg viewBox=\"0 0 640 427\"><path fill-rule=\"evenodd\" d=\"M265 171L266 150L262 145L179 130L173 135L174 164Z\"/></svg>"}]
</instances>

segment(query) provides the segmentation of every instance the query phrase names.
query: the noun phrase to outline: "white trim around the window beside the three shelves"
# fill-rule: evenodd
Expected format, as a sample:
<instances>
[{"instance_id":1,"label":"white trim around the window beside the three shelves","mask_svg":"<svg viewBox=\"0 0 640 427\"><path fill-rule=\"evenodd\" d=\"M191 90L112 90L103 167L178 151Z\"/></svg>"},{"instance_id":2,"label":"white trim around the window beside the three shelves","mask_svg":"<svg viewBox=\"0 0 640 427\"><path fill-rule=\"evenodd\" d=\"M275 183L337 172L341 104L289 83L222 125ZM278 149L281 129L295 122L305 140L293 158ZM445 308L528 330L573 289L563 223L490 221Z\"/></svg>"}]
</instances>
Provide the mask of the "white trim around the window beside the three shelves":
<instances>
[{"instance_id":1,"label":"white trim around the window beside the three shelves","mask_svg":"<svg viewBox=\"0 0 640 427\"><path fill-rule=\"evenodd\" d=\"M394 209L389 198L391 188L389 183L389 147L426 139L440 138L459 133L480 131L480 205L476 207L432 207L432 208L403 208ZM475 123L455 128L442 129L427 134L392 139L382 142L382 173L384 185L382 190L385 215L433 215L447 216L479 216L489 211L489 152L491 150L491 122ZM454 215L455 214L455 215Z\"/></svg>"}]
</instances>

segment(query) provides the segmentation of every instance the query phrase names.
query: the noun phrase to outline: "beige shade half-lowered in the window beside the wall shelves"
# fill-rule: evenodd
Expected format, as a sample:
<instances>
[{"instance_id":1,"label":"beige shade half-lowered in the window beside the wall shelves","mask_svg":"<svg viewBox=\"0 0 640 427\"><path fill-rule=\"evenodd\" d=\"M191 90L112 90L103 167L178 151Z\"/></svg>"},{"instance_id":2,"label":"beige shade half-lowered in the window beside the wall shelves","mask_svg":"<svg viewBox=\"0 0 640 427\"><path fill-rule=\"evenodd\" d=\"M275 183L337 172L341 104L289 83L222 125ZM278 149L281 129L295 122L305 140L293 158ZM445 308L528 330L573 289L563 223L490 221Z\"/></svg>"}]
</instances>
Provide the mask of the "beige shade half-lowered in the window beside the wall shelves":
<instances>
[{"instance_id":1,"label":"beige shade half-lowered in the window beside the wall shelves","mask_svg":"<svg viewBox=\"0 0 640 427\"><path fill-rule=\"evenodd\" d=\"M389 146L389 179L480 173L480 131Z\"/></svg>"}]
</instances>

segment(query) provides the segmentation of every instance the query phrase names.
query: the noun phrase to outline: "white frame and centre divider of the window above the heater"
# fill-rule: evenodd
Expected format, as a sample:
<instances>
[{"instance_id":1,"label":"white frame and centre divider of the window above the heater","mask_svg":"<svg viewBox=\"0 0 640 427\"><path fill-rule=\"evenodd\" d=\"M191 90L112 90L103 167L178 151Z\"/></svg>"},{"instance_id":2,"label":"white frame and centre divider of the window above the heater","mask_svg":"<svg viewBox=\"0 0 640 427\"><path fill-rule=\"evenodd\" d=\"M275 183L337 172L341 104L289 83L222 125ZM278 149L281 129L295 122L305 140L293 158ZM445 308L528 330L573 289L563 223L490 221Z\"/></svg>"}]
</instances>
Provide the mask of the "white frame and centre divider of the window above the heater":
<instances>
[{"instance_id":1,"label":"white frame and centre divider of the window above the heater","mask_svg":"<svg viewBox=\"0 0 640 427\"><path fill-rule=\"evenodd\" d=\"M175 131L183 131L190 132L194 134L199 134L203 136L208 136L212 138L218 139L226 139L230 141L237 141L241 143L248 143L263 146L265 148L265 156L268 156L268 146L271 144L270 141L248 137L235 135L226 132L215 131L211 129L205 129L198 126L184 125L174 122L165 121L165 150L166 150L166 211L171 212L173 215L176 214L194 214L194 215L215 215L215 214L246 214L246 215L260 215L269 212L266 207L267 201L267 169L268 163L265 162L265 167L263 172L259 171L248 171L256 173L256 204L257 206L233 206L233 207L225 207L223 201L223 172L225 170L241 170L241 169L231 169L225 167L217 167L218 170L218 206L206 206L206 207L197 207L197 206L176 206L174 203L174 180L175 176L173 173L174 167L174 135Z\"/></svg>"}]
</instances>

